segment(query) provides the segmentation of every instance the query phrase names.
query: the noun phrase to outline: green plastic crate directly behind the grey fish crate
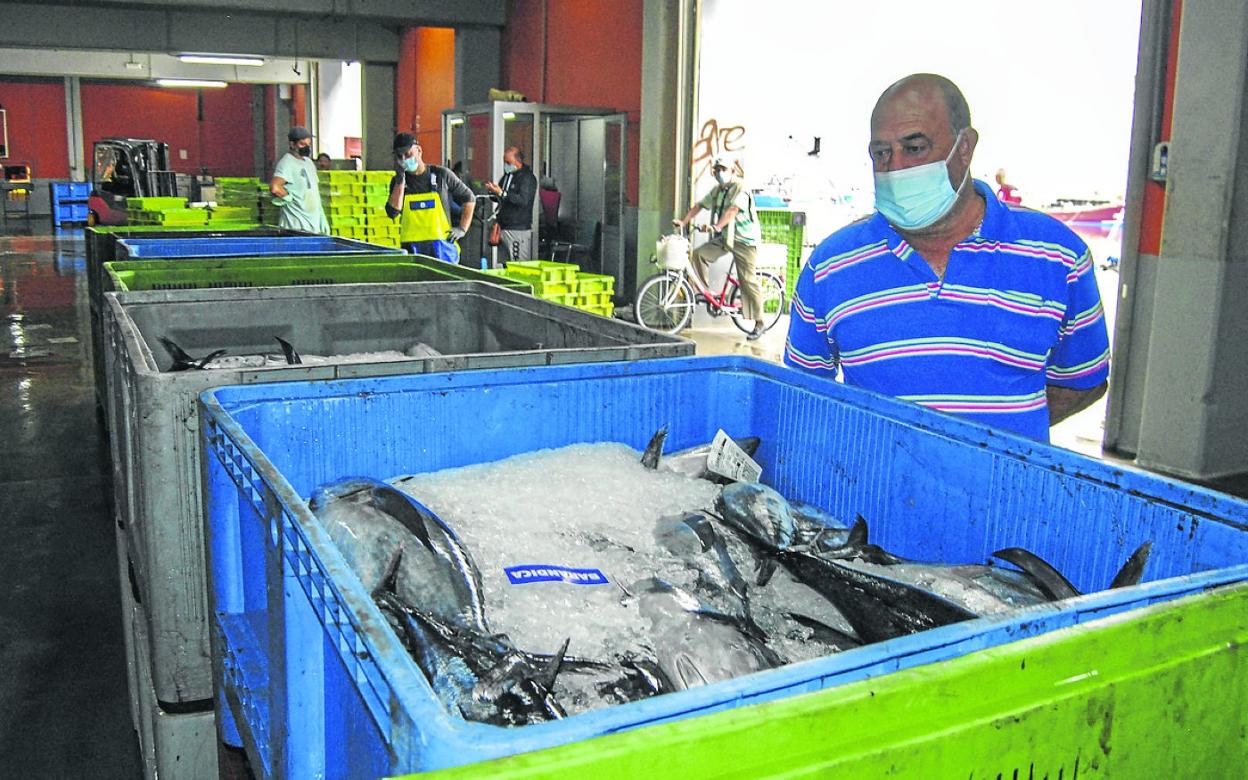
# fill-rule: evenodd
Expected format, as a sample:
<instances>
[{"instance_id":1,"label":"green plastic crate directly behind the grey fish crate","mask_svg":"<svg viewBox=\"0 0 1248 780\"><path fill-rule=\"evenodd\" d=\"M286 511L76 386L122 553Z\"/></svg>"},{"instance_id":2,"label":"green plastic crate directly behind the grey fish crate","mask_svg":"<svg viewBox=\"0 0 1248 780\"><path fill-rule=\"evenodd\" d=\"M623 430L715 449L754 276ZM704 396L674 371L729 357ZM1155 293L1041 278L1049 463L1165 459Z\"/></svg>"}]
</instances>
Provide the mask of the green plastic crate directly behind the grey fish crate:
<instances>
[{"instance_id":1,"label":"green plastic crate directly behind the grey fish crate","mask_svg":"<svg viewBox=\"0 0 1248 780\"><path fill-rule=\"evenodd\" d=\"M479 281L528 293L530 287L507 277L446 263L422 255L318 257L231 257L217 260L135 260L104 263L109 291L207 290L220 287L290 287L295 285L362 285Z\"/></svg>"}]
</instances>

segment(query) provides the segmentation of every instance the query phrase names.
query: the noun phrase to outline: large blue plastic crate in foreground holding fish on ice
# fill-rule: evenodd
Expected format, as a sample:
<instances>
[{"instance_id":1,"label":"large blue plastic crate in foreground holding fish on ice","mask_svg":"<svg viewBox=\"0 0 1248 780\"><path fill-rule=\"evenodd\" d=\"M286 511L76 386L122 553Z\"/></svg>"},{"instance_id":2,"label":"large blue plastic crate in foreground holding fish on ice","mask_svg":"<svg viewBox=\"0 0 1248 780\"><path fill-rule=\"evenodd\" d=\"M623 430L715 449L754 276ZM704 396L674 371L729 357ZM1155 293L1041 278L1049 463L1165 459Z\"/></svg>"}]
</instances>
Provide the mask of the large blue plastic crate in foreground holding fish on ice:
<instances>
[{"instance_id":1,"label":"large blue plastic crate in foreground holding fish on ice","mask_svg":"<svg viewBox=\"0 0 1248 780\"><path fill-rule=\"evenodd\" d=\"M201 396L222 738L258 776L468 764L936 663L1248 579L1248 503L746 358L227 387ZM545 424L534 426L533 419ZM755 434L764 480L914 558L1022 545L1083 589L1153 540L1144 584L503 729L447 714L303 497L575 442Z\"/></svg>"}]
</instances>

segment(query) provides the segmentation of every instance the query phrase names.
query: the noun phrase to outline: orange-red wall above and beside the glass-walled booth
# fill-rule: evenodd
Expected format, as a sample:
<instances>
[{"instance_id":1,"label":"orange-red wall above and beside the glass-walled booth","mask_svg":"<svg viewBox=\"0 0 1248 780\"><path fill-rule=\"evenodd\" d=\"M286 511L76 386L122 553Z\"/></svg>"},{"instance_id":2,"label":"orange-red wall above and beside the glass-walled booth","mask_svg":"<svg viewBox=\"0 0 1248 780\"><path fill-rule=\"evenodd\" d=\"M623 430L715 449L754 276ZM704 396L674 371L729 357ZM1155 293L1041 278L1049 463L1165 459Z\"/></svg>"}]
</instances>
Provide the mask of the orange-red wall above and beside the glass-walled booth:
<instances>
[{"instance_id":1,"label":"orange-red wall above and beside the glass-walled booth","mask_svg":"<svg viewBox=\"0 0 1248 780\"><path fill-rule=\"evenodd\" d=\"M641 140L641 7L643 0L508 0L499 85L534 102L628 114L630 206Z\"/></svg>"}]
</instances>

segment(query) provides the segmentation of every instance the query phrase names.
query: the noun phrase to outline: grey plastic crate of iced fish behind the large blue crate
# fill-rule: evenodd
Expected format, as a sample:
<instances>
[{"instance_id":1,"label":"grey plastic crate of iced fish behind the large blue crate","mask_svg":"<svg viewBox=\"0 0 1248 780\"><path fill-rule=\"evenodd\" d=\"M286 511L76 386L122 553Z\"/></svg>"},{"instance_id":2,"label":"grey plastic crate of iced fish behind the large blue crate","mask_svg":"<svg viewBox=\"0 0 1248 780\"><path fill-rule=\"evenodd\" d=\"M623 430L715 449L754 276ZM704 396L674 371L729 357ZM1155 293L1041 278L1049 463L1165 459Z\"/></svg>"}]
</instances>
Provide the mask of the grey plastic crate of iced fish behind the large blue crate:
<instances>
[{"instance_id":1,"label":"grey plastic crate of iced fish behind the large blue crate","mask_svg":"<svg viewBox=\"0 0 1248 780\"><path fill-rule=\"evenodd\" d=\"M117 520L151 622L157 699L212 695L196 398L223 384L681 357L690 341L484 282L105 295L106 413ZM167 372L168 337L191 354L404 349L442 356Z\"/></svg>"}]
</instances>

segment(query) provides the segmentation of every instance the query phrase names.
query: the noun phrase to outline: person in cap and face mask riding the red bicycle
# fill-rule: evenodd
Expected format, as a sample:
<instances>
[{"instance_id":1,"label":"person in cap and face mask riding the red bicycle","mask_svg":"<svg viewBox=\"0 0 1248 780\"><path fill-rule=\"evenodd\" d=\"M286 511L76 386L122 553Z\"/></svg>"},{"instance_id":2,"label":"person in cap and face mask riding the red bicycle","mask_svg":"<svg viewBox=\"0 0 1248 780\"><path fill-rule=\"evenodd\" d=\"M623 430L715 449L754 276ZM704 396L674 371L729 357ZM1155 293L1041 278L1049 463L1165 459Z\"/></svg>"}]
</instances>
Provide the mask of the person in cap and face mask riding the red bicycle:
<instances>
[{"instance_id":1,"label":"person in cap and face mask riding the red bicycle","mask_svg":"<svg viewBox=\"0 0 1248 780\"><path fill-rule=\"evenodd\" d=\"M754 198L736 177L738 161L720 155L711 160L710 172L716 186L694 203L693 208L680 220L673 220L675 227L685 227L704 208L710 211L711 238L693 251L690 261L694 273L708 285L710 263L733 253L736 263L736 277L741 287L741 316L754 321L754 329L745 337L755 341L764 332L763 293L754 278L754 261L758 256L760 240L758 215L754 211Z\"/></svg>"}]
</instances>

